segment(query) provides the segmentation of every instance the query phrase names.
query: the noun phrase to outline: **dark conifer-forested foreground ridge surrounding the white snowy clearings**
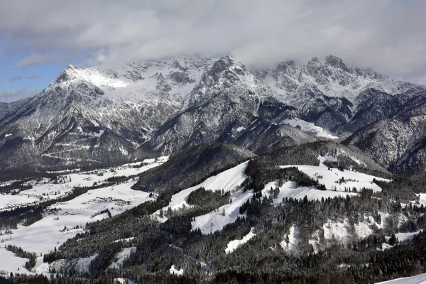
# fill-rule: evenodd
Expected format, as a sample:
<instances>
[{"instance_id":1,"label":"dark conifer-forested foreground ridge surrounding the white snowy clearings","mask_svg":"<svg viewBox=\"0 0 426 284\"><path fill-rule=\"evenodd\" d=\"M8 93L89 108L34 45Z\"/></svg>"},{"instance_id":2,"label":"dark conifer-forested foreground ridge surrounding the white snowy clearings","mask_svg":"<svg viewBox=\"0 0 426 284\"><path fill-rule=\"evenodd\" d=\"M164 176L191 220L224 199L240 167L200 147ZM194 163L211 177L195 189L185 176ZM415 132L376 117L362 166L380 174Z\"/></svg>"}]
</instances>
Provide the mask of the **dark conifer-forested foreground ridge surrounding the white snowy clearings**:
<instances>
[{"instance_id":1,"label":"dark conifer-forested foreground ridge surrounding the white snowy clearings","mask_svg":"<svg viewBox=\"0 0 426 284\"><path fill-rule=\"evenodd\" d=\"M253 195L239 208L236 221L226 224L222 230L202 234L199 228L192 227L192 222L195 217L232 202L229 192L222 188L197 187L187 197L189 207L173 210L168 204L172 195L181 189L161 190L160 183L151 187L153 192L161 192L154 200L86 224L82 233L45 253L43 261L49 263L53 278L13 275L11 279L28 283L114 283L115 278L129 278L136 283L376 283L425 272L425 207L400 203L415 200L416 194L422 192L422 182L392 176L378 166L368 168L349 163L338 151L330 151L329 143L305 147L283 148L250 158L245 170L247 178L238 188ZM285 197L277 202L279 187L267 189L266 194L265 185L275 180L280 186L290 181L296 188L326 190L319 179L310 178L296 166L278 167L318 165L321 154L341 155L329 167L339 170L358 167L360 172L380 173L393 180L374 180L382 192L373 193L364 188L357 195L321 200L308 200L305 196L302 199ZM294 162L289 163L288 159ZM225 165L204 177L195 175L197 180L186 182L200 184L236 165L238 163ZM114 178L105 184L125 180L127 178ZM75 187L71 195L98 187L102 185ZM67 198L71 197L62 197ZM45 205L38 205L40 212ZM153 217L158 210L160 217L167 217L165 220ZM10 212L23 216L18 211ZM358 236L356 230L361 224L371 229L371 234ZM331 226L344 227L347 237L327 236ZM243 239L252 228L255 236L241 248L226 253L229 241ZM423 231L414 236L413 241L398 242L395 237L398 232L420 230ZM297 235L297 244L290 244L290 239L295 238L291 234ZM110 267L117 253L126 248L133 248L129 256L119 266ZM72 260L80 258L93 258L87 271L72 264ZM182 268L184 273L171 274L172 266Z\"/></svg>"}]
</instances>

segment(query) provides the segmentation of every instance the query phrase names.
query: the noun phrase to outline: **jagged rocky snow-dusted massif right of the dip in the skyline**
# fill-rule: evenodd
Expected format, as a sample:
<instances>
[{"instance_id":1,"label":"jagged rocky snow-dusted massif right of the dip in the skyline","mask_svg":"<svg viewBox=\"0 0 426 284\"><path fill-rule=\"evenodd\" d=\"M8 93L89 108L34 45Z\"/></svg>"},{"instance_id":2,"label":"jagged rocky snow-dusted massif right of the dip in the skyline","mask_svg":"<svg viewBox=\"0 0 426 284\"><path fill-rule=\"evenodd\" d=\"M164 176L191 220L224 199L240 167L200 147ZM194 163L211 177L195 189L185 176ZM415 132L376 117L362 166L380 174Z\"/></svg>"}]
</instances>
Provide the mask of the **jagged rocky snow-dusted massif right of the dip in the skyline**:
<instances>
[{"instance_id":1,"label":"jagged rocky snow-dusted massif right of the dip in the skyline","mask_svg":"<svg viewBox=\"0 0 426 284\"><path fill-rule=\"evenodd\" d=\"M346 67L342 59L329 55L306 64L281 62L256 73L279 102L295 107L293 116L315 122L337 133L353 132L405 107L426 89L397 82L371 70ZM275 114L281 121L291 111Z\"/></svg>"}]
</instances>

